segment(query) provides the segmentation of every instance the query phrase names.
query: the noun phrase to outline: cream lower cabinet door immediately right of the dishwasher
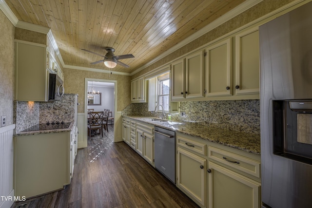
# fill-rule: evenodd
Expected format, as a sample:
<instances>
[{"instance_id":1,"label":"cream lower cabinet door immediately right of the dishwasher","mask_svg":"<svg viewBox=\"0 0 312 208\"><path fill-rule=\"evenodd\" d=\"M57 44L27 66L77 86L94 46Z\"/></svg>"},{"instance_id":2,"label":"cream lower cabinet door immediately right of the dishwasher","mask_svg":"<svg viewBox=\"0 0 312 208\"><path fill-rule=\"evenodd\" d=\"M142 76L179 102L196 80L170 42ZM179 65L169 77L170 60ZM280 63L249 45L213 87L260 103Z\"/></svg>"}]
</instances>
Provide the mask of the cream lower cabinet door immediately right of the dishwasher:
<instances>
[{"instance_id":1,"label":"cream lower cabinet door immediately right of the dishwasher","mask_svg":"<svg viewBox=\"0 0 312 208\"><path fill-rule=\"evenodd\" d=\"M206 163L206 159L177 148L177 187L201 206L206 206Z\"/></svg>"}]
</instances>

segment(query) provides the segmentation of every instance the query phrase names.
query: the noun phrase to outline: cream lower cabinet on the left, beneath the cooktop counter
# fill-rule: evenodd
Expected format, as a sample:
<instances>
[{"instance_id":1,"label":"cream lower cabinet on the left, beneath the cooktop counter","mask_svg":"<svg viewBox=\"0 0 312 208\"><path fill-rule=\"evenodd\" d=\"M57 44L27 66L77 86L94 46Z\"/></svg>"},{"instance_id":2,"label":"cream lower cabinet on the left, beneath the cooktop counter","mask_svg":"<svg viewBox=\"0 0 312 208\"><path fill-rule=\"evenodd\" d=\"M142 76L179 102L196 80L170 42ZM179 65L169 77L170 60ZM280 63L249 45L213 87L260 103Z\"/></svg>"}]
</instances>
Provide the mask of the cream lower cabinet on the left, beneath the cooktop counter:
<instances>
[{"instance_id":1,"label":"cream lower cabinet on the left, beneath the cooktop counter","mask_svg":"<svg viewBox=\"0 0 312 208\"><path fill-rule=\"evenodd\" d=\"M30 198L70 184L75 160L72 132L14 137L16 196Z\"/></svg>"}]
</instances>

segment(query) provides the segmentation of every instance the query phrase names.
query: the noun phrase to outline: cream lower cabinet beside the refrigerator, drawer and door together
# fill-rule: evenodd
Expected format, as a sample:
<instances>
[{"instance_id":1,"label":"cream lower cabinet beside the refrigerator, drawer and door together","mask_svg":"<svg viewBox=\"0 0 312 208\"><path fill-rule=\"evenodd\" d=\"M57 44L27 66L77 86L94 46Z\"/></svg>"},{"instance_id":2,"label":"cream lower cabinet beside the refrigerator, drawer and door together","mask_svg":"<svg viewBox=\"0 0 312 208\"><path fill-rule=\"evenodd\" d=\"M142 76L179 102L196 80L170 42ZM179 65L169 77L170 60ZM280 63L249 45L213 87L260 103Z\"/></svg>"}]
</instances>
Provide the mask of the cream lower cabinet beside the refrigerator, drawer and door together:
<instances>
[{"instance_id":1,"label":"cream lower cabinet beside the refrigerator, drawer and door together","mask_svg":"<svg viewBox=\"0 0 312 208\"><path fill-rule=\"evenodd\" d=\"M260 208L260 156L221 148L208 147L209 208Z\"/></svg>"}]
</instances>

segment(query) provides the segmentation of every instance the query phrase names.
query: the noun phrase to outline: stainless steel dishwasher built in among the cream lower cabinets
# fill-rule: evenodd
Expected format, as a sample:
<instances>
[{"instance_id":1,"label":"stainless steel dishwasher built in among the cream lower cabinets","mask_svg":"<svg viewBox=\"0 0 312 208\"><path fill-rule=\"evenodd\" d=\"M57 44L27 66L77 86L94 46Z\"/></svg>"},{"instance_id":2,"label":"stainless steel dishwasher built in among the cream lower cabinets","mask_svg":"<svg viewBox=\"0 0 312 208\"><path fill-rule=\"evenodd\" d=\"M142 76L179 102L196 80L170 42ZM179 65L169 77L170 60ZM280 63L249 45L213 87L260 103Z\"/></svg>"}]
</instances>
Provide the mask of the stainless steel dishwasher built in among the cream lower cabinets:
<instances>
[{"instance_id":1,"label":"stainless steel dishwasher built in among the cream lower cabinets","mask_svg":"<svg viewBox=\"0 0 312 208\"><path fill-rule=\"evenodd\" d=\"M176 132L155 126L155 168L176 184Z\"/></svg>"}]
</instances>

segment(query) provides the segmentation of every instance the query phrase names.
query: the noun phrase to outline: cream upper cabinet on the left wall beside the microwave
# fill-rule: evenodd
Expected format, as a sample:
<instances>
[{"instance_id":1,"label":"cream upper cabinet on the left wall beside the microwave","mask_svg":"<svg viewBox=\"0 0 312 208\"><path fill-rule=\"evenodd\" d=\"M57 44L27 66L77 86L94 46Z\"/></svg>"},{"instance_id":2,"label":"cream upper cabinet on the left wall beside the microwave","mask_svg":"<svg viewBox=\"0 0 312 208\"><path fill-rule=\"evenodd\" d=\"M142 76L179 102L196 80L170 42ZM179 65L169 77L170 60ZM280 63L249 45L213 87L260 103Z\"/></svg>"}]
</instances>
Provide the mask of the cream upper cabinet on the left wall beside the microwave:
<instances>
[{"instance_id":1,"label":"cream upper cabinet on the left wall beside the microwave","mask_svg":"<svg viewBox=\"0 0 312 208\"><path fill-rule=\"evenodd\" d=\"M47 70L46 52L46 45L16 40L16 100L48 100L49 72Z\"/></svg>"}]
</instances>

